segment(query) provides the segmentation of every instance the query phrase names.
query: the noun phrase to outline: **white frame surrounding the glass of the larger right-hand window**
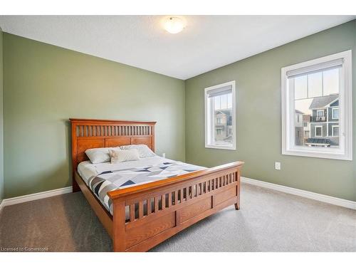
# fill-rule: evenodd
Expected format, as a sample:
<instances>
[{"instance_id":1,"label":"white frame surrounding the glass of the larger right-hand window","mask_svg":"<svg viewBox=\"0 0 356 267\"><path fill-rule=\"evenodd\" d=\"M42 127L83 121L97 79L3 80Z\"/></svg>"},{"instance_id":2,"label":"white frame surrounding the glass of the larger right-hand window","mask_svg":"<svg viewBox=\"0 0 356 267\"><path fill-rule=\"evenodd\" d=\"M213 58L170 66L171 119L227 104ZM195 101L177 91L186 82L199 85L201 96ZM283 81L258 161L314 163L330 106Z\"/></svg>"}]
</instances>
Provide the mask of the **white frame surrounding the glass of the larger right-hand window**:
<instances>
[{"instance_id":1,"label":"white frame surrounding the glass of the larger right-hand window","mask_svg":"<svg viewBox=\"0 0 356 267\"><path fill-rule=\"evenodd\" d=\"M295 145L295 100L288 84L290 70L318 69L330 61L341 61L339 93L339 147L305 147ZM324 67L325 68L325 67ZM352 52L335 53L281 69L282 155L352 160Z\"/></svg>"}]
</instances>

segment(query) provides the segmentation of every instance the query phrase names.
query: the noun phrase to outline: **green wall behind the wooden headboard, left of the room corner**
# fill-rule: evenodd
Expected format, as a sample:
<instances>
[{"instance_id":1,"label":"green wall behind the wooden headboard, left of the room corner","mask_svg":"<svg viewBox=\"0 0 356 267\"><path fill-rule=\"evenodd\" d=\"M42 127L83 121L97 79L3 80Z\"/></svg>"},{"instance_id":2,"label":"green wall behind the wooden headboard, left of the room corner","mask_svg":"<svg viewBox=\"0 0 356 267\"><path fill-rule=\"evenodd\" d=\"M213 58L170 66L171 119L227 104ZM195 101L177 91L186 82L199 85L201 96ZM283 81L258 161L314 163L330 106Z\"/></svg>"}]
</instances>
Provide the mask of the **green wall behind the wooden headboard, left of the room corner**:
<instances>
[{"instance_id":1,"label":"green wall behind the wooden headboard, left of the room corner","mask_svg":"<svg viewBox=\"0 0 356 267\"><path fill-rule=\"evenodd\" d=\"M4 33L5 197L68 187L69 117L156 120L184 160L184 81Z\"/></svg>"}]
</instances>

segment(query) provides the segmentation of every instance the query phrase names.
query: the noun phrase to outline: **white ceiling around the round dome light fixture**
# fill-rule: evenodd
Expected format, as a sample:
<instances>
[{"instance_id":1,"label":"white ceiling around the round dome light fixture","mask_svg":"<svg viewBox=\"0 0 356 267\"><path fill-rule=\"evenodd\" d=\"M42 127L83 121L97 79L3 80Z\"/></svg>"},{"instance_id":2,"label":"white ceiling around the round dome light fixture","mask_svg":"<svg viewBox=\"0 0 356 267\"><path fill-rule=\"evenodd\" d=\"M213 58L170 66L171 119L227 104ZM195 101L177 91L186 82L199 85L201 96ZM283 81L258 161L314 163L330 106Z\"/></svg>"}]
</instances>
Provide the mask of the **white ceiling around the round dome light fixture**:
<instances>
[{"instance_id":1,"label":"white ceiling around the round dome light fixture","mask_svg":"<svg viewBox=\"0 0 356 267\"><path fill-rule=\"evenodd\" d=\"M0 16L3 31L187 79L356 16L184 16L177 34L164 16Z\"/></svg>"}]
</instances>

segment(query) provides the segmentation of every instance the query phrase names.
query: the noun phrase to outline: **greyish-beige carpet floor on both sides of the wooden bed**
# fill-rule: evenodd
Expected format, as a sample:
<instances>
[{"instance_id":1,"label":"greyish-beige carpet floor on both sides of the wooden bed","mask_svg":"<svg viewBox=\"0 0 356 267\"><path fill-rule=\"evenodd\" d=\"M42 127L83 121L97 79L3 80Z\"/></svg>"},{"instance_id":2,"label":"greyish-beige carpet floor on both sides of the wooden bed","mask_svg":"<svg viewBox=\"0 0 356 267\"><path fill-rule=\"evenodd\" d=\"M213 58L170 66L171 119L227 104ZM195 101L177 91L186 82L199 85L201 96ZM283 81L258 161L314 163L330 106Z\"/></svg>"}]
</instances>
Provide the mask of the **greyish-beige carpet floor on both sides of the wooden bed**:
<instances>
[{"instance_id":1,"label":"greyish-beige carpet floor on both sides of the wooden bed","mask_svg":"<svg viewBox=\"0 0 356 267\"><path fill-rule=\"evenodd\" d=\"M2 250L111 251L112 243L78 192L6 206ZM356 251L356 211L243 184L231 206L152 251Z\"/></svg>"}]
</instances>

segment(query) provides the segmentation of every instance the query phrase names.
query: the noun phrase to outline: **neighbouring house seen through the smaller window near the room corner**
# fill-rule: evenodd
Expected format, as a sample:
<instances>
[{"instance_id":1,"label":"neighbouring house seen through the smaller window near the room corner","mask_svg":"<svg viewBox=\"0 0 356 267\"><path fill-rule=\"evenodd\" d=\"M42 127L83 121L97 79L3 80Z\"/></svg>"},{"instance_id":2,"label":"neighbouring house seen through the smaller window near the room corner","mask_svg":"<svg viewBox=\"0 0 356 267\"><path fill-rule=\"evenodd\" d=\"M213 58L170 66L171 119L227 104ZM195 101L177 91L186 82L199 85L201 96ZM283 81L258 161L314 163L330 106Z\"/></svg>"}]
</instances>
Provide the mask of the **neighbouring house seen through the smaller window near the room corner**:
<instances>
[{"instance_id":1,"label":"neighbouring house seen through the smaller window near the room corner","mask_svg":"<svg viewBox=\"0 0 356 267\"><path fill-rule=\"evenodd\" d=\"M215 141L232 142L231 109L215 110Z\"/></svg>"}]
</instances>

